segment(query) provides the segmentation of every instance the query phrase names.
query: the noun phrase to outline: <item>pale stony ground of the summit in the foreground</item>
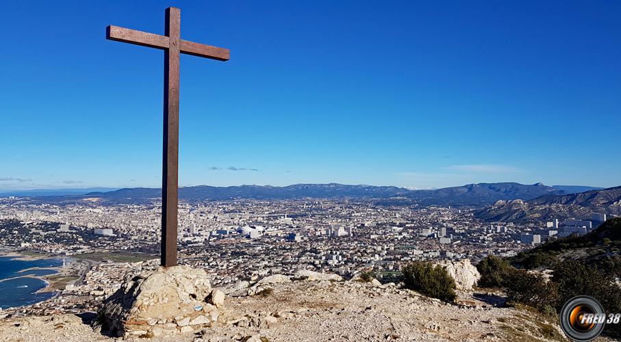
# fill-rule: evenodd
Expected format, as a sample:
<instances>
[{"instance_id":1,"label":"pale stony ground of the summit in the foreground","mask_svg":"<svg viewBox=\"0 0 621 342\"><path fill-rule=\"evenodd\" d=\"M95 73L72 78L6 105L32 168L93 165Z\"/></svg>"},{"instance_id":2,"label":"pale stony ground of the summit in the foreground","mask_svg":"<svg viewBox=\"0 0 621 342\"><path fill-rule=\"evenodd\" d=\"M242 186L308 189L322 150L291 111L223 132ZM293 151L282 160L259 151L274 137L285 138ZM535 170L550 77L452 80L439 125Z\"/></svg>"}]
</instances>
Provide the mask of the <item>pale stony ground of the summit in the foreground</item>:
<instances>
[{"instance_id":1,"label":"pale stony ground of the summit in the foreground","mask_svg":"<svg viewBox=\"0 0 621 342\"><path fill-rule=\"evenodd\" d=\"M556 322L502 298L460 291L445 304L377 282L273 278L227 295L218 320L200 330L152 341L567 341ZM247 295L247 293L254 293ZM8 318L5 341L107 341L88 323L94 314ZM146 336L131 337L148 341Z\"/></svg>"}]
</instances>

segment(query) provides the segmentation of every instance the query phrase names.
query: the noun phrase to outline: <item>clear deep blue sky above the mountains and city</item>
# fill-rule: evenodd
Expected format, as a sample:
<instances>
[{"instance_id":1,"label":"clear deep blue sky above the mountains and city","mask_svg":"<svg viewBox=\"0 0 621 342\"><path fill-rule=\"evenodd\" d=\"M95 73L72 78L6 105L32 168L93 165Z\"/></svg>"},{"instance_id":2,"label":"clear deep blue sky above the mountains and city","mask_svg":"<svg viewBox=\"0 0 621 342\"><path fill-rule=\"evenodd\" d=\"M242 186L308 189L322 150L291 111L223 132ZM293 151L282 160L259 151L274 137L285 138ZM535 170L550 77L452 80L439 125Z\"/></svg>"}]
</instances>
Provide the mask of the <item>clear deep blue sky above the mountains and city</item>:
<instances>
[{"instance_id":1,"label":"clear deep blue sky above the mountains and city","mask_svg":"<svg viewBox=\"0 0 621 342\"><path fill-rule=\"evenodd\" d=\"M180 185L621 185L619 1L10 1L0 189L161 185L170 5Z\"/></svg>"}]
</instances>

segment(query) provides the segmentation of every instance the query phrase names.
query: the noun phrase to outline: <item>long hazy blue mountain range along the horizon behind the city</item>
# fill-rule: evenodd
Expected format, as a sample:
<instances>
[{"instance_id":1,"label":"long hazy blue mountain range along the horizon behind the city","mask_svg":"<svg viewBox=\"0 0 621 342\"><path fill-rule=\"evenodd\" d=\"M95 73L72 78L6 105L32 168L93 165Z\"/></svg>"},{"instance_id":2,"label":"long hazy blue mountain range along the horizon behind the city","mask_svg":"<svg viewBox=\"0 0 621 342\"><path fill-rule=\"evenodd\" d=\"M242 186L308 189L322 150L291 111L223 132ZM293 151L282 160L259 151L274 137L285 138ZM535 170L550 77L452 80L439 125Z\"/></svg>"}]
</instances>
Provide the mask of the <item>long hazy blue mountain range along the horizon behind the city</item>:
<instances>
[{"instance_id":1,"label":"long hazy blue mountain range along the horizon behind the city","mask_svg":"<svg viewBox=\"0 0 621 342\"><path fill-rule=\"evenodd\" d=\"M541 196L567 195L572 192L598 189L593 187L547 186L542 183L523 185L520 183L478 183L460 187L446 187L433 190L411 190L403 187L373 185L295 184L285 187L270 185L240 185L213 187L199 185L180 187L181 200L234 200L270 199L286 200L296 198L383 198L386 200L405 200L420 205L491 205L498 200L532 200ZM148 202L160 198L159 188L124 188L109 192L88 192L63 196L39 196L32 200L39 202Z\"/></svg>"}]
</instances>

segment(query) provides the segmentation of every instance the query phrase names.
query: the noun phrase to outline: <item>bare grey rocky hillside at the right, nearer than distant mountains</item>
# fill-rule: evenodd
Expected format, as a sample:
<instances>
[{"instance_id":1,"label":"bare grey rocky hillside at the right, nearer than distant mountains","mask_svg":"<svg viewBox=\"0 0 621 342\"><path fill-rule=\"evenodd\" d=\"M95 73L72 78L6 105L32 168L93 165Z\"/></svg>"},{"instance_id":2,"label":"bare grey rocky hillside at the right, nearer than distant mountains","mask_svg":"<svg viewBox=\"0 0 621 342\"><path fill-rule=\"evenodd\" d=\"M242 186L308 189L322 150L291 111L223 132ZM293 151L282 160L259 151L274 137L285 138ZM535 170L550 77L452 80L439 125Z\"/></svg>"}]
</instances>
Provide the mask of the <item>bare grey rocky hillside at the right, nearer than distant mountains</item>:
<instances>
[{"instance_id":1,"label":"bare grey rocky hillside at the right, nearer than distant mountains","mask_svg":"<svg viewBox=\"0 0 621 342\"><path fill-rule=\"evenodd\" d=\"M552 218L588 219L594 212L621 215L621 187L579 194L550 194L526 201L500 200L474 215L487 222L528 222Z\"/></svg>"}]
</instances>

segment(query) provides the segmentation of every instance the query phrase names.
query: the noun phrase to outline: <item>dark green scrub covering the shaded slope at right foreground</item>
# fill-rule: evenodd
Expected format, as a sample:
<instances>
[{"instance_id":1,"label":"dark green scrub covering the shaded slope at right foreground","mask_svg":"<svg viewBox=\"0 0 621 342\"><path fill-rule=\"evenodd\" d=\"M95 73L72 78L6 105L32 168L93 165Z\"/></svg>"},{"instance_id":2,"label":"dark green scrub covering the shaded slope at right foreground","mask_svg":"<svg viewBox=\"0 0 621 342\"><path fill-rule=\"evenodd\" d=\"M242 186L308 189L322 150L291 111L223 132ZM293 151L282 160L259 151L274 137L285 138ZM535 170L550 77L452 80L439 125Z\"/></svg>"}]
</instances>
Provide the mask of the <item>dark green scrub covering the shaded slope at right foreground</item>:
<instances>
[{"instance_id":1,"label":"dark green scrub covering the shaded slope at right foreground","mask_svg":"<svg viewBox=\"0 0 621 342\"><path fill-rule=\"evenodd\" d=\"M576 295L590 295L608 313L621 312L621 219L605 222L582 237L567 237L543 244L517 257L487 257L478 265L479 286L504 289L509 304L524 304L542 313L558 313ZM513 264L513 265L511 265ZM551 269L547 279L541 269ZM621 326L607 334L621 336Z\"/></svg>"}]
</instances>

